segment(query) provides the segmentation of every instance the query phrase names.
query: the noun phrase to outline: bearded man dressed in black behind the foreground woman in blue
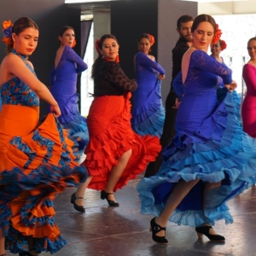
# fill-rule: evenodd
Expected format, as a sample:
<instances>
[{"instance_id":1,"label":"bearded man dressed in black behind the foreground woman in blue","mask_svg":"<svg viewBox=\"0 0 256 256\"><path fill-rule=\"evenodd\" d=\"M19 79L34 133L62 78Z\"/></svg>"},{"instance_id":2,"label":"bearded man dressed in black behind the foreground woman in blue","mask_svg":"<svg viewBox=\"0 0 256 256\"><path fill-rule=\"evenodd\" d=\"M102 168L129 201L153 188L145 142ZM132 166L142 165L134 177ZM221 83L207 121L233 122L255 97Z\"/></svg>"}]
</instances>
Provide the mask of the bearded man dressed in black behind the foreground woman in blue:
<instances>
[{"instance_id":1,"label":"bearded man dressed in black behind the foreground woman in blue","mask_svg":"<svg viewBox=\"0 0 256 256\"><path fill-rule=\"evenodd\" d=\"M172 81L177 76L177 73L181 71L181 63L183 54L189 49L192 40L191 27L193 25L193 17L189 15L183 15L177 20L176 31L179 34L179 39L175 47L172 49ZM179 100L172 88L166 98L166 119L163 128L162 136L160 137L160 144L162 148L165 148L175 136L175 120L177 114ZM162 163L161 153L154 162L148 164L148 168L145 172L145 177L153 176L159 171Z\"/></svg>"}]
</instances>

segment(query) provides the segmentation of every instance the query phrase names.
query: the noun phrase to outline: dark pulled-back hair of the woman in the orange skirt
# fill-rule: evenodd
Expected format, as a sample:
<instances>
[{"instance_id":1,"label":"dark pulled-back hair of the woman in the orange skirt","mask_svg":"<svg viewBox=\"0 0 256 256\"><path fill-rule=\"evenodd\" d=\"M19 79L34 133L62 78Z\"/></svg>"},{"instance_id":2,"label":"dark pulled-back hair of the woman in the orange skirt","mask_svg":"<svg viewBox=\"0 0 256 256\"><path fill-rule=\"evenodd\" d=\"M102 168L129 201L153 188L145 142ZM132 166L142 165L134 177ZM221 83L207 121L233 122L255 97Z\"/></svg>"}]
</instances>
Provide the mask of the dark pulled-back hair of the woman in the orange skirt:
<instances>
[{"instance_id":1,"label":"dark pulled-back hair of the woman in the orange skirt","mask_svg":"<svg viewBox=\"0 0 256 256\"><path fill-rule=\"evenodd\" d=\"M23 32L26 28L29 28L29 27L39 30L38 24L34 20L27 17L22 17L15 21L12 32L18 36L20 32ZM11 49L14 48L14 41L12 38L10 38L10 42L11 44L7 45L7 48L6 48L8 53L11 51Z\"/></svg>"}]
</instances>

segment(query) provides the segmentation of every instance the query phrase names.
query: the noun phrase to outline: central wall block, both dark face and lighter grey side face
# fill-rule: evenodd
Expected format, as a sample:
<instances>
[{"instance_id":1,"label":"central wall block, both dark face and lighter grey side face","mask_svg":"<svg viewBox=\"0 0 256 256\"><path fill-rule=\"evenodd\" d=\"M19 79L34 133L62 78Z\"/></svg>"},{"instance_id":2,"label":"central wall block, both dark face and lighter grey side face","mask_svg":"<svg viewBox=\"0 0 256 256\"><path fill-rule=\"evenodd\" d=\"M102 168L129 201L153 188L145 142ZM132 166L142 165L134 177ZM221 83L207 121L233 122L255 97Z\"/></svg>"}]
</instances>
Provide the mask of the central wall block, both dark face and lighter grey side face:
<instances>
[{"instance_id":1,"label":"central wall block, both dark face and lighter grey side face","mask_svg":"<svg viewBox=\"0 0 256 256\"><path fill-rule=\"evenodd\" d=\"M129 78L135 78L133 56L137 38L143 32L155 38L151 54L166 70L161 84L165 104L172 80L172 49L179 38L177 19L197 15L197 3L175 0L129 0L111 2L111 33L119 40L120 65Z\"/></svg>"}]
</instances>

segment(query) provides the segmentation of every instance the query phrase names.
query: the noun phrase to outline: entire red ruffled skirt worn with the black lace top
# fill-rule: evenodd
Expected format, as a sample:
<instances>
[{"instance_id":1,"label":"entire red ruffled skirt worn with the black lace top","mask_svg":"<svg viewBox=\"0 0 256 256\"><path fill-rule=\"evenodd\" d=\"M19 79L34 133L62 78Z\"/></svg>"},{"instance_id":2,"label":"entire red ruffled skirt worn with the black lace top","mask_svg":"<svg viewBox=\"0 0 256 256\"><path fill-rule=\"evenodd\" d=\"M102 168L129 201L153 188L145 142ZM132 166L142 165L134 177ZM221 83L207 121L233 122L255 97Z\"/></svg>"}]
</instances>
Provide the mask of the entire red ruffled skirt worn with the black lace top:
<instances>
[{"instance_id":1,"label":"entire red ruffled skirt worn with the black lace top","mask_svg":"<svg viewBox=\"0 0 256 256\"><path fill-rule=\"evenodd\" d=\"M153 161L160 152L158 137L140 137L131 130L130 97L131 93L125 98L102 96L92 102L87 119L90 142L84 152L84 165L93 176L90 189L105 189L109 172L129 149L132 150L131 158L114 191L144 172L148 162ZM102 113L102 109L108 109L108 112Z\"/></svg>"}]
</instances>

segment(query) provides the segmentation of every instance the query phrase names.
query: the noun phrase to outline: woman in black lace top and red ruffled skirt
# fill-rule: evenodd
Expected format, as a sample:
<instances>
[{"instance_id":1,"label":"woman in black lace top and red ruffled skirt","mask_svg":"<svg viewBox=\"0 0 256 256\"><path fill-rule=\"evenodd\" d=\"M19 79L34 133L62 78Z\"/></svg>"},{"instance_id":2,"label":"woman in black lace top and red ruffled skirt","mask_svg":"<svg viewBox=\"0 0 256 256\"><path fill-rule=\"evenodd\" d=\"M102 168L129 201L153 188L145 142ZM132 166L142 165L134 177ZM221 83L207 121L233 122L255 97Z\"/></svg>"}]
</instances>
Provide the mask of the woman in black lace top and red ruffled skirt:
<instances>
[{"instance_id":1,"label":"woman in black lace top and red ruffled skirt","mask_svg":"<svg viewBox=\"0 0 256 256\"><path fill-rule=\"evenodd\" d=\"M131 178L142 173L160 151L157 137L139 137L131 130L131 92L137 83L128 79L119 66L119 44L111 35L96 40L98 57L92 67L94 101L87 125L90 141L82 165L89 172L85 183L72 195L74 207L83 212L84 191L101 190L102 200L119 207L113 192L123 188Z\"/></svg>"}]
</instances>

